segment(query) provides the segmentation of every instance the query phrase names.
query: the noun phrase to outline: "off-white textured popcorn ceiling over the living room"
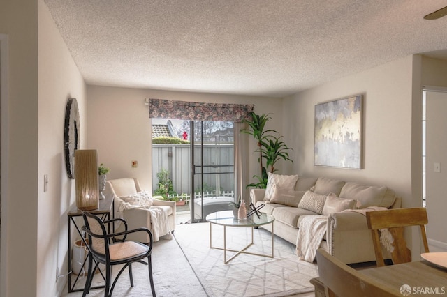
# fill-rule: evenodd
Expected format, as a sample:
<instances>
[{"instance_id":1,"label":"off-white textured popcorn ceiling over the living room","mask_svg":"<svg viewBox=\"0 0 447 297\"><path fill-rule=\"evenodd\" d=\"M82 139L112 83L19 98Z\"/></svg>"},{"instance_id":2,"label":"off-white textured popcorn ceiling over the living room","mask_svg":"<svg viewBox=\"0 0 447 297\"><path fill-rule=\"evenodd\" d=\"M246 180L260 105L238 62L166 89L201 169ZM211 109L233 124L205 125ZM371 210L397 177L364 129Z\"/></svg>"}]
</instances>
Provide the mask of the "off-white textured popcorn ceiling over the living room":
<instances>
[{"instance_id":1,"label":"off-white textured popcorn ceiling over the living room","mask_svg":"<svg viewBox=\"0 0 447 297\"><path fill-rule=\"evenodd\" d=\"M45 0L87 84L287 96L447 55L445 0ZM439 52L441 51L441 52Z\"/></svg>"}]
</instances>

